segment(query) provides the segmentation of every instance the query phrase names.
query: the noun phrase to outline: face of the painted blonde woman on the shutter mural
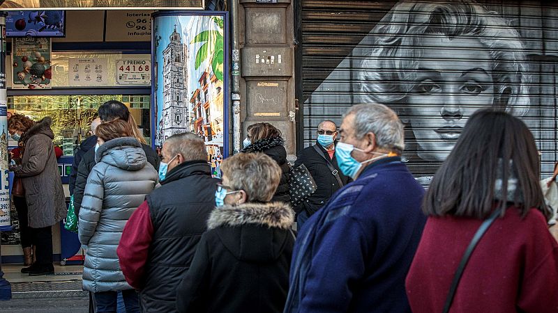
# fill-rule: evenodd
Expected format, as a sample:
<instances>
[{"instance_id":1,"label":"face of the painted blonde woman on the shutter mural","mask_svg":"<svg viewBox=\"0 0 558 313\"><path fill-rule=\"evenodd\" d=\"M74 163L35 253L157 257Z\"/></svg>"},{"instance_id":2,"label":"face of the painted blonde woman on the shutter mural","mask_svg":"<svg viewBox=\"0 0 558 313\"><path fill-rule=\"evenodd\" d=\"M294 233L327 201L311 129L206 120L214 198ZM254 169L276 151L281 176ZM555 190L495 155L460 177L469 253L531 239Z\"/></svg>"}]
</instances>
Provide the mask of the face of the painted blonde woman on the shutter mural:
<instances>
[{"instance_id":1,"label":"face of the painted blonde woman on the shutter mural","mask_svg":"<svg viewBox=\"0 0 558 313\"><path fill-rule=\"evenodd\" d=\"M425 161L444 161L467 119L492 106L494 83L489 51L474 38L425 35L416 84L405 115Z\"/></svg>"}]
</instances>

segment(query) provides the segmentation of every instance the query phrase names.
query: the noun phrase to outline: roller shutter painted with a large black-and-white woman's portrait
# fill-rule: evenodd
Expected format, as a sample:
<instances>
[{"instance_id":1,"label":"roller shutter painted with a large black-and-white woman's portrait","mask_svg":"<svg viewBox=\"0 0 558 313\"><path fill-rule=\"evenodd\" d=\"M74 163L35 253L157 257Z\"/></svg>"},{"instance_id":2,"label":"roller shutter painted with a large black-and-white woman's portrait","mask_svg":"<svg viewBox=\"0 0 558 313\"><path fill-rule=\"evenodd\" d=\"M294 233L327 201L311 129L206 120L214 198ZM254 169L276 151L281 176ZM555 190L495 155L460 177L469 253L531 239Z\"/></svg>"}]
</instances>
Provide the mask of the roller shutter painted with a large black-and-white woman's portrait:
<instances>
[{"instance_id":1,"label":"roller shutter painted with a large black-and-white woman's portrait","mask_svg":"<svg viewBox=\"0 0 558 313\"><path fill-rule=\"evenodd\" d=\"M409 168L428 177L472 112L511 93L505 103L533 132L543 177L550 175L558 160L558 6L477 2L302 0L305 146L319 122L339 125L349 106L375 99L405 122Z\"/></svg>"}]
</instances>

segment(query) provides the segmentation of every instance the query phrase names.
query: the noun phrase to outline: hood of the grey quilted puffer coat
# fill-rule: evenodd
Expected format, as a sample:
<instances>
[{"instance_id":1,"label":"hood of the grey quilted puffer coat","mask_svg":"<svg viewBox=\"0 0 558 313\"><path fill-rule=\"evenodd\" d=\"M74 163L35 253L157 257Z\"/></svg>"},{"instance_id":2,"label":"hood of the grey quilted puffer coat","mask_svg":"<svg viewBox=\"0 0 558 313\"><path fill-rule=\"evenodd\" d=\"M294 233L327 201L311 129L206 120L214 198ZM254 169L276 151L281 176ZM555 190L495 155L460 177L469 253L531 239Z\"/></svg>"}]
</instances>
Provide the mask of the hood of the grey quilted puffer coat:
<instances>
[{"instance_id":1,"label":"hood of the grey quilted puffer coat","mask_svg":"<svg viewBox=\"0 0 558 313\"><path fill-rule=\"evenodd\" d=\"M133 137L114 138L101 145L95 162L103 161L123 170L141 170L147 163L142 144Z\"/></svg>"}]
</instances>

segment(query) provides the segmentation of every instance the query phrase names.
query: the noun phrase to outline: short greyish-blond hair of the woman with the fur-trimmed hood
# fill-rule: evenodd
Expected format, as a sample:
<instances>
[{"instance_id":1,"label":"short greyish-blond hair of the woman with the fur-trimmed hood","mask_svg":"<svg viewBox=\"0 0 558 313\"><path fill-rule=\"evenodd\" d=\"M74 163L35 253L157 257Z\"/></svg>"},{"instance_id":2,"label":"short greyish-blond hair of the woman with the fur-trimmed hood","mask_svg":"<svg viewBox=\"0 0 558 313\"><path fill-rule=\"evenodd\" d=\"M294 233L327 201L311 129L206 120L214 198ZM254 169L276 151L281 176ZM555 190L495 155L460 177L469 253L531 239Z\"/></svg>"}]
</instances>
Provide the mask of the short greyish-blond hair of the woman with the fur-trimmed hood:
<instances>
[{"instance_id":1,"label":"short greyish-blond hair of the woman with the fur-trimmed hood","mask_svg":"<svg viewBox=\"0 0 558 313\"><path fill-rule=\"evenodd\" d=\"M269 202L281 179L277 162L263 153L239 153L221 164L223 176L234 190L246 192L246 202Z\"/></svg>"}]
</instances>

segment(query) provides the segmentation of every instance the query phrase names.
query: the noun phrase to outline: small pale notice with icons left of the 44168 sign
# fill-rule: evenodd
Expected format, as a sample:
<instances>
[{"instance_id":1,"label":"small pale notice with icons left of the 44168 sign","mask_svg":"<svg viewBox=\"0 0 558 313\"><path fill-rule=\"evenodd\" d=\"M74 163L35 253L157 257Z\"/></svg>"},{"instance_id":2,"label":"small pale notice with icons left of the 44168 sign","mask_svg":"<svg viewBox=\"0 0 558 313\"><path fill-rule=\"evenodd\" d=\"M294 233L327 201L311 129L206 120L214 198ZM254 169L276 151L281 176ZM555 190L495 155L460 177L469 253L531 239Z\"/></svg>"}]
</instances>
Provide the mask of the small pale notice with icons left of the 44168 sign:
<instances>
[{"instance_id":1,"label":"small pale notice with icons left of the 44168 sign","mask_svg":"<svg viewBox=\"0 0 558 313\"><path fill-rule=\"evenodd\" d=\"M108 83L106 58L70 58L70 86L105 86Z\"/></svg>"}]
</instances>

